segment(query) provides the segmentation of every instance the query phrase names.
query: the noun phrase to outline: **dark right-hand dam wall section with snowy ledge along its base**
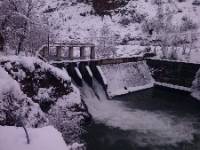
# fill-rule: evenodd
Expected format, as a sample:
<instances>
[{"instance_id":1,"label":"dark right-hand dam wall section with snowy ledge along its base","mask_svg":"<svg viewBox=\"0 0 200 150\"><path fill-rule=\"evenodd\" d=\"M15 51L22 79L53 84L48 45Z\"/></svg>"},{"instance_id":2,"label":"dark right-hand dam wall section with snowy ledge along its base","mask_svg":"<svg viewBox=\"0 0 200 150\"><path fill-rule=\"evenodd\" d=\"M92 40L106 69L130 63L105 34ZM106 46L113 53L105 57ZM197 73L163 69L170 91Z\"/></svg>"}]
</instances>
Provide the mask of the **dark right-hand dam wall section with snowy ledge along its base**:
<instances>
[{"instance_id":1,"label":"dark right-hand dam wall section with snowy ledge along its base","mask_svg":"<svg viewBox=\"0 0 200 150\"><path fill-rule=\"evenodd\" d=\"M147 59L147 64L155 84L188 92L200 68L200 64L159 59Z\"/></svg>"}]
</instances>

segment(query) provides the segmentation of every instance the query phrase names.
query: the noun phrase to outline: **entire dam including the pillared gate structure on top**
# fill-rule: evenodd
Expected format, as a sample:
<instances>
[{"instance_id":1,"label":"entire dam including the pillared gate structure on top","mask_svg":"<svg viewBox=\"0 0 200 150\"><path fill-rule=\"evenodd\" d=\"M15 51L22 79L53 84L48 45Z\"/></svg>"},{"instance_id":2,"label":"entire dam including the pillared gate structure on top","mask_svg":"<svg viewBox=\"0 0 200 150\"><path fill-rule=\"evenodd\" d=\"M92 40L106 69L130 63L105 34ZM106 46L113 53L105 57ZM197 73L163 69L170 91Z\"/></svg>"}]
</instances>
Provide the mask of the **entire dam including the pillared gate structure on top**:
<instances>
[{"instance_id":1,"label":"entire dam including the pillared gate structure on top","mask_svg":"<svg viewBox=\"0 0 200 150\"><path fill-rule=\"evenodd\" d=\"M200 68L200 64L152 58L155 56L153 53L133 57L96 58L95 45L91 43L44 45L38 51L38 56L67 70L79 86L83 85L83 81L92 86L94 77L110 98L153 86L190 93L192 82Z\"/></svg>"}]
</instances>

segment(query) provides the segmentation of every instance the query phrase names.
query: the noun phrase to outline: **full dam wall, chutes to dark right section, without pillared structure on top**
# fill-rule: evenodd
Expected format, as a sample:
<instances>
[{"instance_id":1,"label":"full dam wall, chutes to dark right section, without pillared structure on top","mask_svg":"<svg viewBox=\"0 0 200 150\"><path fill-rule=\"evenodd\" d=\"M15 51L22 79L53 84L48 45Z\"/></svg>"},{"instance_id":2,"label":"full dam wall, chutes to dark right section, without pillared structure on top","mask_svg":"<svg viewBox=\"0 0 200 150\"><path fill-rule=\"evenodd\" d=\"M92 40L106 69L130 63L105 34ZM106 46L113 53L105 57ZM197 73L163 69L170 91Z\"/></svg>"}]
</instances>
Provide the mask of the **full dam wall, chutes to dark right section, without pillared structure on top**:
<instances>
[{"instance_id":1,"label":"full dam wall, chutes to dark right section, without pillared structure on top","mask_svg":"<svg viewBox=\"0 0 200 150\"><path fill-rule=\"evenodd\" d=\"M155 58L62 62L54 65L65 68L78 86L85 81L93 87L95 78L109 97L154 85L191 92L192 82L200 68L200 64Z\"/></svg>"}]
</instances>

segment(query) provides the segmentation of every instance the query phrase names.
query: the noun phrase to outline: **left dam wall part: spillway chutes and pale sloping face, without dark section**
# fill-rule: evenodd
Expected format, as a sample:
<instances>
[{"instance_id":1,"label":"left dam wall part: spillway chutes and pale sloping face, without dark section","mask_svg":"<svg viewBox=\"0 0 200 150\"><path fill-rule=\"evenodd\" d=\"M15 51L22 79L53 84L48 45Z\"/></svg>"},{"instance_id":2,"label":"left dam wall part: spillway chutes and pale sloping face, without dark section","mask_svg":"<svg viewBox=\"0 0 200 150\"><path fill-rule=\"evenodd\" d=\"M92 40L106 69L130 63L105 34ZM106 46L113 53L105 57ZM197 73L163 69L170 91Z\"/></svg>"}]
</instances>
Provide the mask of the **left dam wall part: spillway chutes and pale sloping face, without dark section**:
<instances>
[{"instance_id":1,"label":"left dam wall part: spillway chutes and pale sloping face, without dark section","mask_svg":"<svg viewBox=\"0 0 200 150\"><path fill-rule=\"evenodd\" d=\"M95 78L104 88L108 97L123 95L153 87L153 79L145 61L123 63L59 63L65 68L74 82L82 86L83 80L93 86Z\"/></svg>"}]
</instances>

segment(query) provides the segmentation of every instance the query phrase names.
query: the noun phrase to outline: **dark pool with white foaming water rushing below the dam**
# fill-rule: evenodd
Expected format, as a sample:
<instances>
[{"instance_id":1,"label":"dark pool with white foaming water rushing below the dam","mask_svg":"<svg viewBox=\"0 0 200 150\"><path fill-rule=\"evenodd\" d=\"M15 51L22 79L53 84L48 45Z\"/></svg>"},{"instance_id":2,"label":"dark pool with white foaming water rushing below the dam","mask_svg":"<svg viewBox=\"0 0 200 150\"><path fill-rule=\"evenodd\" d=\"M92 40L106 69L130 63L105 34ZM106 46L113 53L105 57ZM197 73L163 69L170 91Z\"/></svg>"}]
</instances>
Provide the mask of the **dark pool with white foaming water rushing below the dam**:
<instances>
[{"instance_id":1,"label":"dark pool with white foaming water rushing below the dam","mask_svg":"<svg viewBox=\"0 0 200 150\"><path fill-rule=\"evenodd\" d=\"M101 85L80 89L94 122L88 150L200 150L200 102L153 88L108 100Z\"/></svg>"}]
</instances>

